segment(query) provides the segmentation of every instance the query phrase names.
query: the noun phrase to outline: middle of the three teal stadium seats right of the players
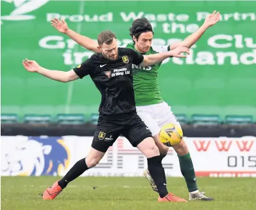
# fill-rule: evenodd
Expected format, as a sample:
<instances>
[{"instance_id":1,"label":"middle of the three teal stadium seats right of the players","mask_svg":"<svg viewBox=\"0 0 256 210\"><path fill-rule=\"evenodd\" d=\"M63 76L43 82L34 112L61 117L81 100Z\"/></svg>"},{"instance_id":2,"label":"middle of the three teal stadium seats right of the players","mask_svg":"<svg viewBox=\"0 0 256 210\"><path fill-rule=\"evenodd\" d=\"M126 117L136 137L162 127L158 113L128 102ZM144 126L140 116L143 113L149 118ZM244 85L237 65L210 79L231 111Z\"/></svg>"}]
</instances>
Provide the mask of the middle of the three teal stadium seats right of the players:
<instances>
[{"instance_id":1,"label":"middle of the three teal stadium seats right of the players","mask_svg":"<svg viewBox=\"0 0 256 210\"><path fill-rule=\"evenodd\" d=\"M218 125L218 124L221 124L219 115L194 114L191 117L191 122L194 125Z\"/></svg>"}]
</instances>

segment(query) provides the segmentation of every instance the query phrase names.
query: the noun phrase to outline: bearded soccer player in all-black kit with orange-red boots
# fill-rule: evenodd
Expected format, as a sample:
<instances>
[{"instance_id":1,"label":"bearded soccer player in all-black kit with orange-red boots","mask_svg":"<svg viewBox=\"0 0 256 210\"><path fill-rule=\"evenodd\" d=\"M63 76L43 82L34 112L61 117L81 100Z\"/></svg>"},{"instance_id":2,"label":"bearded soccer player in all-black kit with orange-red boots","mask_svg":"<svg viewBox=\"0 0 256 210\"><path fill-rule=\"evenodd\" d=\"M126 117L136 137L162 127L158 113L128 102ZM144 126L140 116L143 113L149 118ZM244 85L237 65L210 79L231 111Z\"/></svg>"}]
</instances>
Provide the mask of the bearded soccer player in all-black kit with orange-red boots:
<instances>
[{"instance_id":1,"label":"bearded soccer player in all-black kit with orange-red boots","mask_svg":"<svg viewBox=\"0 0 256 210\"><path fill-rule=\"evenodd\" d=\"M112 146L117 137L123 134L133 147L137 147L148 158L148 170L159 191L159 202L169 202L173 196L166 188L166 175L162 159L152 135L137 115L133 92L132 63L149 66L159 63L170 56L184 58L189 54L186 47L178 47L173 51L143 56L132 49L117 47L117 40L111 31L103 31L98 36L101 53L93 54L78 67L63 72L40 67L36 61L23 60L24 68L30 72L38 72L50 79L69 82L89 75L101 92L99 120L92 147L87 157L80 159L67 172L43 193L44 200L53 200L67 184L83 172L96 166ZM187 202L180 198L180 202Z\"/></svg>"}]
</instances>

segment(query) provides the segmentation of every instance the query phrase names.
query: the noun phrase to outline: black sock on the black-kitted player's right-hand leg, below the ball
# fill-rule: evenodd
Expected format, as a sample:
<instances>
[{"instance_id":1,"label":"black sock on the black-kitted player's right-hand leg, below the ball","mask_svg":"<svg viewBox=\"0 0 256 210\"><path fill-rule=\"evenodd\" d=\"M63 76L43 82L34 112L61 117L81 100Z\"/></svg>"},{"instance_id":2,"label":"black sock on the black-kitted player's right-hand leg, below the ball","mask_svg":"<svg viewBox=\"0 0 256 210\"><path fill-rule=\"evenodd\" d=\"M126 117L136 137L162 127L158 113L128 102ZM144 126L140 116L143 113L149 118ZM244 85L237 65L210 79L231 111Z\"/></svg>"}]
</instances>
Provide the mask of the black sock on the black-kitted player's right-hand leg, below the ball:
<instances>
[{"instance_id":1,"label":"black sock on the black-kitted player's right-hand leg, below the ball","mask_svg":"<svg viewBox=\"0 0 256 210\"><path fill-rule=\"evenodd\" d=\"M153 181L155 181L155 185L157 186L159 196L164 198L167 194L166 188L166 174L164 172L164 168L162 166L162 157L155 156L148 158L148 171Z\"/></svg>"}]
</instances>

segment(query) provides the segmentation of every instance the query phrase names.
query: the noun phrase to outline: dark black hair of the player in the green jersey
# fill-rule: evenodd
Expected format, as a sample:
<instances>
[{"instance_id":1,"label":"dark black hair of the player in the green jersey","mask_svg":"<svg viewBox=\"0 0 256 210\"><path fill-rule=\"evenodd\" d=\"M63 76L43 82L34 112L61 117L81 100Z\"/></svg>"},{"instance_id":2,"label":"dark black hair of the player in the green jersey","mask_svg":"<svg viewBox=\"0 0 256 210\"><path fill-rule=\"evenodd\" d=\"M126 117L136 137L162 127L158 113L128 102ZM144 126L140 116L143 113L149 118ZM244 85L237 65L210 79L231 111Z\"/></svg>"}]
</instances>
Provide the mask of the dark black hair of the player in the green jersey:
<instances>
[{"instance_id":1,"label":"dark black hair of the player in the green jersey","mask_svg":"<svg viewBox=\"0 0 256 210\"><path fill-rule=\"evenodd\" d=\"M132 22L132 27L129 29L130 36L135 36L135 38L138 40L139 36L144 32L151 31L153 33L153 28L145 17L136 19ZM154 33L153 33L154 34ZM134 42L134 41L133 41Z\"/></svg>"}]
</instances>

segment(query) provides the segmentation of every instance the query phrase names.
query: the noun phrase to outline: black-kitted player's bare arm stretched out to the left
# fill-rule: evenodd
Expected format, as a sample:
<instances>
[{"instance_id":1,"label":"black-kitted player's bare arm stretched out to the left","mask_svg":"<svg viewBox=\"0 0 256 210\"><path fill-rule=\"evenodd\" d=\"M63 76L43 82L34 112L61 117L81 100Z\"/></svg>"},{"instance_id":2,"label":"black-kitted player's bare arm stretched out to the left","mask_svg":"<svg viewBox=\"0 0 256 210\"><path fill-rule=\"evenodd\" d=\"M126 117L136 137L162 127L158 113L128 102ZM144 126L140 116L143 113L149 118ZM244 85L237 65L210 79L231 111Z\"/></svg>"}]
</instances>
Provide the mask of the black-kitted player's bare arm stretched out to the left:
<instances>
[{"instance_id":1,"label":"black-kitted player's bare arm stretched out to the left","mask_svg":"<svg viewBox=\"0 0 256 210\"><path fill-rule=\"evenodd\" d=\"M43 67L40 67L36 61L28 59L23 60L22 65L29 72L37 72L45 77L48 77L49 79L60 81L62 83L67 83L79 78L73 69L69 70L68 72L44 69Z\"/></svg>"}]
</instances>

